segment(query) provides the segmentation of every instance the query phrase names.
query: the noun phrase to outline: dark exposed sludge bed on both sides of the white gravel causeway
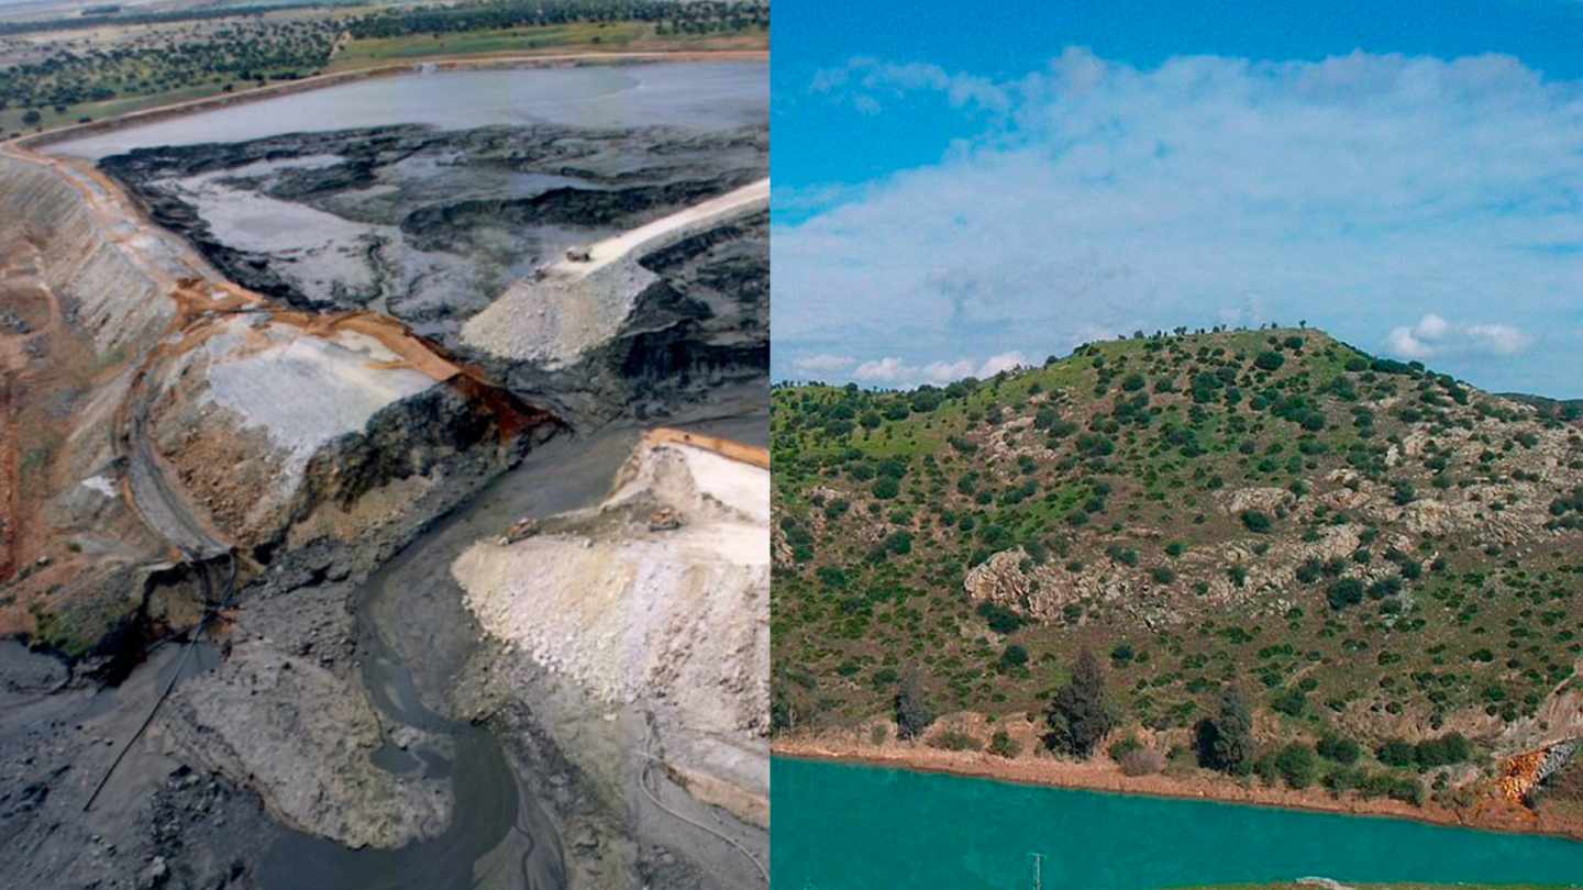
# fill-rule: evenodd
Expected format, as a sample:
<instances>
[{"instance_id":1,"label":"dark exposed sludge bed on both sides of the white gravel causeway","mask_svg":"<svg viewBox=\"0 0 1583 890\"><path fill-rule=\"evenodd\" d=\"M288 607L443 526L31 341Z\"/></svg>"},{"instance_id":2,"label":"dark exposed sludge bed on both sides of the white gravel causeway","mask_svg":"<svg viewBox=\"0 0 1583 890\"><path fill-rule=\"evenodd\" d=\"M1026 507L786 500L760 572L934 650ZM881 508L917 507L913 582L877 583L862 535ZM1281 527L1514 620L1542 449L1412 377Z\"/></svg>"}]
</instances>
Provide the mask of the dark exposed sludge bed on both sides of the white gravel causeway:
<instances>
[{"instance_id":1,"label":"dark exposed sludge bed on both sides of the white gravel causeway","mask_svg":"<svg viewBox=\"0 0 1583 890\"><path fill-rule=\"evenodd\" d=\"M237 282L302 309L388 314L573 426L632 405L663 416L761 380L769 364L768 211L689 230L603 269L611 280L595 290L617 299L567 288L537 307L554 331L532 344L495 350L461 336L568 245L761 181L763 125L393 125L142 149L101 163L155 222ZM521 339L503 326L495 336Z\"/></svg>"}]
</instances>

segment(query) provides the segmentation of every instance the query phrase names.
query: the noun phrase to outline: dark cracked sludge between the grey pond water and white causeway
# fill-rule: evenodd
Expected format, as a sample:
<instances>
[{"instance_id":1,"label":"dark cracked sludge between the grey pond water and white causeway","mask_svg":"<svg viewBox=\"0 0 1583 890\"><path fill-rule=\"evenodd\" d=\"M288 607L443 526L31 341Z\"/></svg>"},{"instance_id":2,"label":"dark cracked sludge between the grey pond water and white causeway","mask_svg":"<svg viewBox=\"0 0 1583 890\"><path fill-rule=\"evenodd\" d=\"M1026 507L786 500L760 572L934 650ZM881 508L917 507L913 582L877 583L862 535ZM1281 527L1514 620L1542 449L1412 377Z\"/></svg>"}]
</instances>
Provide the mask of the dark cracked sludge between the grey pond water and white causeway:
<instances>
[{"instance_id":1,"label":"dark cracked sludge between the grey pond water and white causeway","mask_svg":"<svg viewBox=\"0 0 1583 890\"><path fill-rule=\"evenodd\" d=\"M391 125L139 149L101 166L239 283L377 309L454 345L462 320L567 247L763 177L763 127Z\"/></svg>"}]
</instances>

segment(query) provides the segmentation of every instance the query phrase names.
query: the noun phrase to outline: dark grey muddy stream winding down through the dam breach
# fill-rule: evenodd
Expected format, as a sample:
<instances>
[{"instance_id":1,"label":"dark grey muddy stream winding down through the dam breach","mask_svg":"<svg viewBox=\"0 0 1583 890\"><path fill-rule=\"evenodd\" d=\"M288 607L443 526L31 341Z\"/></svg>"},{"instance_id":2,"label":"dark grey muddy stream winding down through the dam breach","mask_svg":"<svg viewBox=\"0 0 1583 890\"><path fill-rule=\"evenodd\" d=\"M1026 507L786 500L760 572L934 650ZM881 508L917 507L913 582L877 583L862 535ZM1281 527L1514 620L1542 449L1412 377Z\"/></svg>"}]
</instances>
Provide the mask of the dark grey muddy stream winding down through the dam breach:
<instances>
[{"instance_id":1,"label":"dark grey muddy stream winding down through the dam breach","mask_svg":"<svg viewBox=\"0 0 1583 890\"><path fill-rule=\"evenodd\" d=\"M765 437L763 416L692 424L711 434ZM386 721L386 738L408 725L440 740L402 751L394 743L375 762L394 773L450 779L454 809L443 835L396 850L350 850L288 831L260 865L268 888L451 890L567 885L567 852L538 797L541 776L513 773L494 733L457 722L426 703L443 697L480 640L462 605L451 562L514 518L548 516L595 504L638 440L635 426L549 442L467 504L438 519L374 573L358 594L363 683ZM624 732L608 724L613 733ZM613 740L621 744L624 740ZM448 749L448 751L446 751Z\"/></svg>"}]
</instances>

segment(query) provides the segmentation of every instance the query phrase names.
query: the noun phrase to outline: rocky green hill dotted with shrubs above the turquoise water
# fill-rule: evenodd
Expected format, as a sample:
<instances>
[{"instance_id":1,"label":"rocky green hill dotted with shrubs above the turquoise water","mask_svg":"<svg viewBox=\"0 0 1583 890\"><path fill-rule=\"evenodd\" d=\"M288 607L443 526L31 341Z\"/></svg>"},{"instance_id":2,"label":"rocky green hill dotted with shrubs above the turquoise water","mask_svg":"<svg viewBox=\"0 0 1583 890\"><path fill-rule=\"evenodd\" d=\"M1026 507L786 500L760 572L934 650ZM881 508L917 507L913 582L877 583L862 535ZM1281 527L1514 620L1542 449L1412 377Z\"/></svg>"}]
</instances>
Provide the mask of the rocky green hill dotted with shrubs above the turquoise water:
<instances>
[{"instance_id":1,"label":"rocky green hill dotted with shrubs above the turquoise water","mask_svg":"<svg viewBox=\"0 0 1583 890\"><path fill-rule=\"evenodd\" d=\"M986 717L931 736L955 749L1081 755L1081 724L1124 768L1414 803L1583 735L1561 412L1312 329L1179 329L943 388L780 386L773 448L782 732L904 698Z\"/></svg>"}]
</instances>

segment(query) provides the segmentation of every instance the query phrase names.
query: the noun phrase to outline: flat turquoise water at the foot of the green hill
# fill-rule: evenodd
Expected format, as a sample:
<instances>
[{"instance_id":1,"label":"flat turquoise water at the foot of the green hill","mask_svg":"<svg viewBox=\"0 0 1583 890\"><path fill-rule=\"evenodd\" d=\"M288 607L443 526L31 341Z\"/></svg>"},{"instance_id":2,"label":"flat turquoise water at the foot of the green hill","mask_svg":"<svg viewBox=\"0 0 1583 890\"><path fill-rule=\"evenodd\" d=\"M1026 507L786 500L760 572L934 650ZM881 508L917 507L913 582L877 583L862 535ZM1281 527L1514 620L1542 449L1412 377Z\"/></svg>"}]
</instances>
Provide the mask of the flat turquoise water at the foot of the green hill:
<instances>
[{"instance_id":1,"label":"flat turquoise water at the foot of the green hill","mask_svg":"<svg viewBox=\"0 0 1583 890\"><path fill-rule=\"evenodd\" d=\"M777 757L780 890L1149 890L1292 880L1583 887L1583 844L1398 819L1038 789Z\"/></svg>"}]
</instances>

